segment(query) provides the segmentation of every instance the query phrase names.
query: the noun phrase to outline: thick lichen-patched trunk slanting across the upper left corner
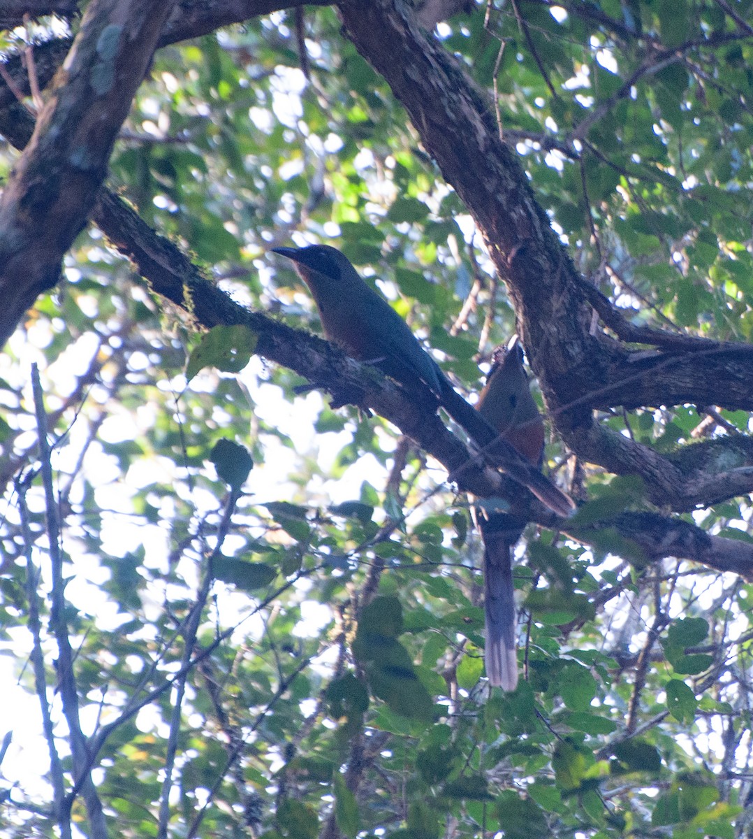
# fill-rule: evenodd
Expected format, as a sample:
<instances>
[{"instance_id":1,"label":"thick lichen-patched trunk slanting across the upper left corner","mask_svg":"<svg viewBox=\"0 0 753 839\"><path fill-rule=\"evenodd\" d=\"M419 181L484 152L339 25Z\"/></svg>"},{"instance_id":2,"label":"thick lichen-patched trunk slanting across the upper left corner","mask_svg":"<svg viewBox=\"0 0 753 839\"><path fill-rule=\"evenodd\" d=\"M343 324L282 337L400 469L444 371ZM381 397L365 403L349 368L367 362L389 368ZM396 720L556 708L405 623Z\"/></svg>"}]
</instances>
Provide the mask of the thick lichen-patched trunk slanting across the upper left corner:
<instances>
[{"instance_id":1,"label":"thick lichen-patched trunk slanting across the upper left corner","mask_svg":"<svg viewBox=\"0 0 753 839\"><path fill-rule=\"evenodd\" d=\"M95 0L0 199L0 296L8 339L86 224L117 132L172 3Z\"/></svg>"}]
</instances>

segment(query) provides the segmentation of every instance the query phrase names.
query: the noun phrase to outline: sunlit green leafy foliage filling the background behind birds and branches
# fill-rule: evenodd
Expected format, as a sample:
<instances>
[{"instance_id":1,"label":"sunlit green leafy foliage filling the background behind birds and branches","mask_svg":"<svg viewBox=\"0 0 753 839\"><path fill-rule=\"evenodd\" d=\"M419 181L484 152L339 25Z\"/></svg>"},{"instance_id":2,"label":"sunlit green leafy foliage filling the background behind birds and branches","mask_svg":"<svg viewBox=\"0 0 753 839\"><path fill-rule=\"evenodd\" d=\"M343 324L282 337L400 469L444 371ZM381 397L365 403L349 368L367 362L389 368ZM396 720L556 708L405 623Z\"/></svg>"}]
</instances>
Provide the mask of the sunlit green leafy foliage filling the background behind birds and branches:
<instances>
[{"instance_id":1,"label":"sunlit green leafy foliage filling the background behind birds and branches","mask_svg":"<svg viewBox=\"0 0 753 839\"><path fill-rule=\"evenodd\" d=\"M753 3L459 5L431 37L585 281L634 326L750 342ZM283 9L162 46L107 184L288 326L319 320L269 250L335 244L470 395L530 313L421 132L337 8ZM530 524L524 677L490 691L479 539L442 466L245 352L244 327L202 330L110 240L75 240L0 357L0 649L24 712L0 836L65 836L69 808L68 835L140 839L753 835L745 573ZM747 440L744 404L629 407L596 417L659 454ZM659 506L555 433L546 467L582 524ZM673 512L751 541L743 493Z\"/></svg>"}]
</instances>

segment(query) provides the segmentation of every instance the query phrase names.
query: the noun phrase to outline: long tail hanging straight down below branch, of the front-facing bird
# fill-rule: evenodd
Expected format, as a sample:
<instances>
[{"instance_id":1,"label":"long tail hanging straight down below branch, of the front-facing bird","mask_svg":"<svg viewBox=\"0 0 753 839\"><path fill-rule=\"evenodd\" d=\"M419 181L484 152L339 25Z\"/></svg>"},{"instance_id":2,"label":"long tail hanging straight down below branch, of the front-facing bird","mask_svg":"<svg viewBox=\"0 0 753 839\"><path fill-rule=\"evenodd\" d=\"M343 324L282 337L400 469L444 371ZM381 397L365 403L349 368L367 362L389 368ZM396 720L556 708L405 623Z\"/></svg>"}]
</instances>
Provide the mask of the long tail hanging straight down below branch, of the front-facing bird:
<instances>
[{"instance_id":1,"label":"long tail hanging straight down below branch, of the front-facing bird","mask_svg":"<svg viewBox=\"0 0 753 839\"><path fill-rule=\"evenodd\" d=\"M484 612L486 617L486 676L502 690L517 687L515 588L512 550L521 526L511 516L492 513L480 518L484 540Z\"/></svg>"}]
</instances>

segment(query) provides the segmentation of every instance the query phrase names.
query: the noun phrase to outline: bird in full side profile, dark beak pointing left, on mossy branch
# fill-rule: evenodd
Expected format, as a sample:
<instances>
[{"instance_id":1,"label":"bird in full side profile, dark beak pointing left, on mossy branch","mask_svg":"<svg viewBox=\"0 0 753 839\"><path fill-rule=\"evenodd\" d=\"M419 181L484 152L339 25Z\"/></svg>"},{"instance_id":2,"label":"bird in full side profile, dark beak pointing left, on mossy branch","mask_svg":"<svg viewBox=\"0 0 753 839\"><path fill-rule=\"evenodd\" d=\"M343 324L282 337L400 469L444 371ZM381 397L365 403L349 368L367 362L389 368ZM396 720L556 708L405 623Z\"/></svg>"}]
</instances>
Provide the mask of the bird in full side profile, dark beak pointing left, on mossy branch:
<instances>
[{"instance_id":1,"label":"bird in full side profile, dark beak pointing left, on mossy branch","mask_svg":"<svg viewBox=\"0 0 753 839\"><path fill-rule=\"evenodd\" d=\"M330 245L272 248L292 260L309 287L328 340L357 361L371 363L408 389L422 388L475 440L478 449L548 508L567 516L573 501L500 437L483 414L457 393L441 368L387 300L367 285L351 261Z\"/></svg>"}]
</instances>

